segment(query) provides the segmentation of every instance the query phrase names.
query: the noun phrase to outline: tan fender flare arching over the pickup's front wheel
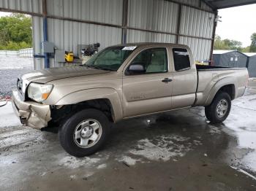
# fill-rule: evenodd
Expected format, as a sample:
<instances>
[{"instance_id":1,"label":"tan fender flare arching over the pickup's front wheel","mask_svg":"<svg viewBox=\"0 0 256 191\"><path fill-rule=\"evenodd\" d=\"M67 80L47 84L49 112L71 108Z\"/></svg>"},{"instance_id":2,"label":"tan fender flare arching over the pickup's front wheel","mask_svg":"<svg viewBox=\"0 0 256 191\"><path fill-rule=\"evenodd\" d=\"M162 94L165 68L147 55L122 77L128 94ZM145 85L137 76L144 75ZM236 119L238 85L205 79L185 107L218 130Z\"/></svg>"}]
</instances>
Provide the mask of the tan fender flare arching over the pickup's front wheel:
<instances>
[{"instance_id":1,"label":"tan fender flare arching over the pickup's front wheel","mask_svg":"<svg viewBox=\"0 0 256 191\"><path fill-rule=\"evenodd\" d=\"M108 99L112 106L111 112L113 112L113 121L116 122L123 118L123 110L121 107L121 101L118 93L113 88L94 88L87 90L79 90L73 93L64 95L56 106L78 104L83 101L90 101L94 99Z\"/></svg>"}]
</instances>

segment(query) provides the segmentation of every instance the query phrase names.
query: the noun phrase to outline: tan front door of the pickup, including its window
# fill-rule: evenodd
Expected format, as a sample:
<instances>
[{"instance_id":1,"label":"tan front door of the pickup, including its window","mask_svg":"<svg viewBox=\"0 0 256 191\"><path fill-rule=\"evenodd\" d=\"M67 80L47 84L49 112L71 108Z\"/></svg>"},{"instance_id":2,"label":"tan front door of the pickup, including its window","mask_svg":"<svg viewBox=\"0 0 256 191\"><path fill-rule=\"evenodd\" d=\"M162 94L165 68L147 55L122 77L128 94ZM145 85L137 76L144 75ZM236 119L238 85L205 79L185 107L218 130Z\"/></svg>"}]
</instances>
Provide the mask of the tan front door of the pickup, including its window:
<instances>
[{"instance_id":1,"label":"tan front door of the pickup, including its window","mask_svg":"<svg viewBox=\"0 0 256 191\"><path fill-rule=\"evenodd\" d=\"M132 117L171 109L172 74L167 47L140 51L124 69L124 117ZM129 66L140 66L140 72L129 71ZM136 67L133 67L136 68Z\"/></svg>"}]
</instances>

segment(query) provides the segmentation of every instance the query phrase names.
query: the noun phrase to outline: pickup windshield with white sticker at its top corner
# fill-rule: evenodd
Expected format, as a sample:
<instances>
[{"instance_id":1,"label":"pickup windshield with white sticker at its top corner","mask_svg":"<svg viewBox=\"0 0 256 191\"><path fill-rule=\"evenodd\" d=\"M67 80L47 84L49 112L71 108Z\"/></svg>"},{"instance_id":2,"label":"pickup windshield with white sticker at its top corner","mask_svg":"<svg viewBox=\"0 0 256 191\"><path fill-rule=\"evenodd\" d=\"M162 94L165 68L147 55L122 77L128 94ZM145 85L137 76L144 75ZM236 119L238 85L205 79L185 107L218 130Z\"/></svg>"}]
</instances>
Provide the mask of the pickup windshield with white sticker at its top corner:
<instances>
[{"instance_id":1,"label":"pickup windshield with white sticker at its top corner","mask_svg":"<svg viewBox=\"0 0 256 191\"><path fill-rule=\"evenodd\" d=\"M117 71L136 47L108 47L86 62L86 66L110 71Z\"/></svg>"}]
</instances>

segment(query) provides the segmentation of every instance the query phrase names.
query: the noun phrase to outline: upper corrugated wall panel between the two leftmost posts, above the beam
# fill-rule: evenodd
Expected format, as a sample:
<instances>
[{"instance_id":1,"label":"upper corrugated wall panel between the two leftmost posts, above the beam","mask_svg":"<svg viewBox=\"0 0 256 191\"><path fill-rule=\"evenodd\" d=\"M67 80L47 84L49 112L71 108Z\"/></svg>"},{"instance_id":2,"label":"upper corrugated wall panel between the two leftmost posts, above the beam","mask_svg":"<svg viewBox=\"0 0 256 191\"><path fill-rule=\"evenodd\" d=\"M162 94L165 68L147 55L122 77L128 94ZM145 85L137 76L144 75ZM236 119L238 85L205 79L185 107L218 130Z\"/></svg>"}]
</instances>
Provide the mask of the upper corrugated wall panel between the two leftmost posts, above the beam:
<instances>
[{"instance_id":1,"label":"upper corrugated wall panel between the two leftmost posts, above the beam","mask_svg":"<svg viewBox=\"0 0 256 191\"><path fill-rule=\"evenodd\" d=\"M47 0L48 15L121 25L123 1Z\"/></svg>"}]
</instances>

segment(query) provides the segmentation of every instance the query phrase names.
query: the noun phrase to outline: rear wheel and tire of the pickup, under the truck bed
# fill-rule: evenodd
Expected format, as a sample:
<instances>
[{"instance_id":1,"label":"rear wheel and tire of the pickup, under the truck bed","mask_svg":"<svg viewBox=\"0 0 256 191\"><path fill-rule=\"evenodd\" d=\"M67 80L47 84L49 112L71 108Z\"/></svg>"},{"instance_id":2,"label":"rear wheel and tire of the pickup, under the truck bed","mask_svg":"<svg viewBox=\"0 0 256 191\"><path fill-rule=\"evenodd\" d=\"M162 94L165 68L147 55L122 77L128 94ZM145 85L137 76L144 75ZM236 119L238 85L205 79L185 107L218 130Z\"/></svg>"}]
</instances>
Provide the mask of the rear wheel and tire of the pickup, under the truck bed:
<instances>
[{"instance_id":1,"label":"rear wheel and tire of the pickup, under the truck bed","mask_svg":"<svg viewBox=\"0 0 256 191\"><path fill-rule=\"evenodd\" d=\"M219 109L218 109L219 108ZM224 110L222 110L224 109ZM220 123L230 114L231 98L228 93L219 92L209 106L205 107L206 118L211 123ZM223 112L225 111L225 112Z\"/></svg>"}]
</instances>

